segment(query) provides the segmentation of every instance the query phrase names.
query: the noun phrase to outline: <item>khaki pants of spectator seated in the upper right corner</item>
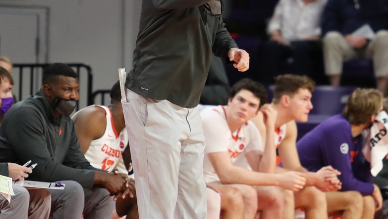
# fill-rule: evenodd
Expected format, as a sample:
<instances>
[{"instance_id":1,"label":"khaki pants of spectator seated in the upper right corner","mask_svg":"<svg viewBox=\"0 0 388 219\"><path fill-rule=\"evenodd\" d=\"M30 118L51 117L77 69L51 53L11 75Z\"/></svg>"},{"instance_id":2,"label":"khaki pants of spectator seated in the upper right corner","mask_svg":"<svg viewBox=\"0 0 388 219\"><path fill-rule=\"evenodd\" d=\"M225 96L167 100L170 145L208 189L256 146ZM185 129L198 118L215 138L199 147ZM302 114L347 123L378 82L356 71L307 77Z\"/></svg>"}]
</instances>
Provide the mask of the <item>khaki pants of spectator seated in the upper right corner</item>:
<instances>
[{"instance_id":1,"label":"khaki pants of spectator seated in the upper right corner","mask_svg":"<svg viewBox=\"0 0 388 219\"><path fill-rule=\"evenodd\" d=\"M344 61L371 58L376 77L388 75L388 31L379 31L367 46L353 48L338 32L323 37L323 58L326 75L340 75Z\"/></svg>"}]
</instances>

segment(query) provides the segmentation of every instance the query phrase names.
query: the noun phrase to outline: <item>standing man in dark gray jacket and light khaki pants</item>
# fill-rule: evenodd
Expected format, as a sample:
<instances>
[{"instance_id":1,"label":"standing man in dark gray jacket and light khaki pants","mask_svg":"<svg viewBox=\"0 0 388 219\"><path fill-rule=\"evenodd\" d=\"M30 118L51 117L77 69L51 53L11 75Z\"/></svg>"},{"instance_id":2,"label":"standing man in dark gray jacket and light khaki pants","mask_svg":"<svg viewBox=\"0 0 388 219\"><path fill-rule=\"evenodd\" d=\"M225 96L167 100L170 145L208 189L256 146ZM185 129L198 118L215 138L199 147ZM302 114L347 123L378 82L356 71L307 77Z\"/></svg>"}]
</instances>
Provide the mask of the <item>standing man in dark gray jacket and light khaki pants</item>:
<instances>
[{"instance_id":1,"label":"standing man in dark gray jacket and light khaki pants","mask_svg":"<svg viewBox=\"0 0 388 219\"><path fill-rule=\"evenodd\" d=\"M240 72L222 0L142 0L123 109L141 219L206 218L204 135L197 109L212 53Z\"/></svg>"}]
</instances>

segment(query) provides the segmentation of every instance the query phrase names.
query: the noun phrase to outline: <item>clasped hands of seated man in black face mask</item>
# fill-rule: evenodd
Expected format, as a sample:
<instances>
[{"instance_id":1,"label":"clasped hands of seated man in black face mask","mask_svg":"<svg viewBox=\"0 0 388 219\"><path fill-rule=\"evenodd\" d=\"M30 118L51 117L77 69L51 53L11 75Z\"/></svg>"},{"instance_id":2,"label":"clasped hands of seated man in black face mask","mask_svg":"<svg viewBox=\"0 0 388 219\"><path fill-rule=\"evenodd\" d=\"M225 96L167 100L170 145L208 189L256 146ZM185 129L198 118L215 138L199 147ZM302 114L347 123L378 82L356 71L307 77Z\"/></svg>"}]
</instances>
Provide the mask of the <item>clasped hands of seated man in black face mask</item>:
<instances>
[{"instance_id":1,"label":"clasped hands of seated man in black face mask","mask_svg":"<svg viewBox=\"0 0 388 219\"><path fill-rule=\"evenodd\" d=\"M134 197L135 184L133 179L130 179L126 174L115 174L115 173L105 173L96 171L95 173L95 183L101 184L106 188L110 195L114 195L113 200L117 198Z\"/></svg>"}]
</instances>

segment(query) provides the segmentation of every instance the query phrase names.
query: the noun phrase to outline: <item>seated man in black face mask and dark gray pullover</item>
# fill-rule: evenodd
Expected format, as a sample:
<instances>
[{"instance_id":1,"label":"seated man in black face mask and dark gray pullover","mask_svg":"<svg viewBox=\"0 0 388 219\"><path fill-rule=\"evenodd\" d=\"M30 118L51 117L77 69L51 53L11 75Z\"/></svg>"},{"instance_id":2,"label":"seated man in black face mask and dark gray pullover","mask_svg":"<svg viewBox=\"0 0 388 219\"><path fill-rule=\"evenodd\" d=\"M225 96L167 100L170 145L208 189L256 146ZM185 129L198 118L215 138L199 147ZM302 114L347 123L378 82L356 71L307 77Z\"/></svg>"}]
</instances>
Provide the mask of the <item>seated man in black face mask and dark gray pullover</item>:
<instances>
[{"instance_id":1,"label":"seated man in black face mask and dark gray pullover","mask_svg":"<svg viewBox=\"0 0 388 219\"><path fill-rule=\"evenodd\" d=\"M65 184L50 189L54 218L110 218L114 202L134 184L126 174L100 171L85 159L69 118L78 95L77 74L55 63L43 71L42 88L14 105L0 126L0 162L36 162L30 178ZM97 185L97 186L94 186Z\"/></svg>"}]
</instances>

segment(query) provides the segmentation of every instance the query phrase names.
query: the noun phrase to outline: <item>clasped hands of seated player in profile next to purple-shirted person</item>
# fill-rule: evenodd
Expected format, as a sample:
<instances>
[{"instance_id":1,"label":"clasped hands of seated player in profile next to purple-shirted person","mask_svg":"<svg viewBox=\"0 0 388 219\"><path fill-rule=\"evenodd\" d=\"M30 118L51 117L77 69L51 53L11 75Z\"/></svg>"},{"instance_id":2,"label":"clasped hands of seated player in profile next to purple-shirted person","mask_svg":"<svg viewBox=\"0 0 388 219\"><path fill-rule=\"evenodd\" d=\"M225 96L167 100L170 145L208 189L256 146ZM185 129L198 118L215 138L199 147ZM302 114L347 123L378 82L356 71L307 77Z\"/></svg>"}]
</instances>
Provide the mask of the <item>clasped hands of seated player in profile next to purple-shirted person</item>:
<instances>
[{"instance_id":1,"label":"clasped hands of seated player in profile next to purple-shirted person","mask_svg":"<svg viewBox=\"0 0 388 219\"><path fill-rule=\"evenodd\" d=\"M314 186L319 190L327 192L341 189L342 183L338 179L341 173L338 170L331 166L326 166L317 171L316 174L317 181L314 183Z\"/></svg>"}]
</instances>

